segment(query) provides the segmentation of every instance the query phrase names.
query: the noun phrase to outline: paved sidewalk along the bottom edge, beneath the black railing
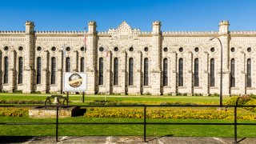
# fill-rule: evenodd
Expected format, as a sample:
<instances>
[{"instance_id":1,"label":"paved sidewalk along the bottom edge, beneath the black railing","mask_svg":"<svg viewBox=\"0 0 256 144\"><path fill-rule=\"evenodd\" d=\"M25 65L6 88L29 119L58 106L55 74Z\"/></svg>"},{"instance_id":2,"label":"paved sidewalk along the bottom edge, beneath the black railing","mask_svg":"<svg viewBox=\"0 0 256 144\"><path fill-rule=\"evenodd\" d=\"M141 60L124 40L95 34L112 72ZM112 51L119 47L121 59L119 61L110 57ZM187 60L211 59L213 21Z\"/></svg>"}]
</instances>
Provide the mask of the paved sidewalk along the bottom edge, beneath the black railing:
<instances>
[{"instance_id":1,"label":"paved sidewalk along the bottom edge, beneath the black railing","mask_svg":"<svg viewBox=\"0 0 256 144\"><path fill-rule=\"evenodd\" d=\"M241 138L238 138L240 140ZM229 144L234 142L234 138L196 138L196 137L148 137L147 142L143 142L142 137L132 136L62 136L58 137L58 144L61 143L82 143L82 144L118 144L118 143L149 143L149 144ZM0 137L0 143L56 143L55 137ZM245 138L241 144L254 144L256 138Z\"/></svg>"}]
</instances>

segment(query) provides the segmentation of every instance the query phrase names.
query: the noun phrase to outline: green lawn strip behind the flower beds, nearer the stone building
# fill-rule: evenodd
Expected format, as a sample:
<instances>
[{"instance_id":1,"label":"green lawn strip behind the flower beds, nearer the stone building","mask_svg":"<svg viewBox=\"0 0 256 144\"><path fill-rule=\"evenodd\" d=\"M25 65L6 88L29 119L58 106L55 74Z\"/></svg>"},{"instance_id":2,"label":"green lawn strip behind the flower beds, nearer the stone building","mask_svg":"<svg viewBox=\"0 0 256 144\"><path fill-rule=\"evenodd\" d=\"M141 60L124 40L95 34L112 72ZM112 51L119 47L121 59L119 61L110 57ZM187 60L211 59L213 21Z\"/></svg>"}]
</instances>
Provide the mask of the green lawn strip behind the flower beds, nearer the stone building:
<instances>
[{"instance_id":1,"label":"green lawn strip behind the flower beds, nearer the stone building","mask_svg":"<svg viewBox=\"0 0 256 144\"><path fill-rule=\"evenodd\" d=\"M22 99L22 100L42 100L44 101L46 97L50 94L0 94L0 100L11 100L11 99ZM70 104L80 105L82 95L70 95ZM225 103L229 97L223 98L223 103ZM105 95L86 95L85 102L92 101L104 101ZM160 104L161 102L194 102L199 104L219 104L218 97L203 97L203 96L151 96L151 95L107 95L107 101L118 101L118 102L142 102L145 104Z\"/></svg>"}]
</instances>

